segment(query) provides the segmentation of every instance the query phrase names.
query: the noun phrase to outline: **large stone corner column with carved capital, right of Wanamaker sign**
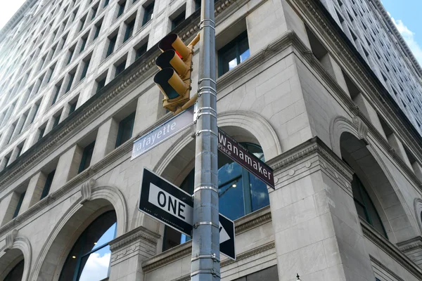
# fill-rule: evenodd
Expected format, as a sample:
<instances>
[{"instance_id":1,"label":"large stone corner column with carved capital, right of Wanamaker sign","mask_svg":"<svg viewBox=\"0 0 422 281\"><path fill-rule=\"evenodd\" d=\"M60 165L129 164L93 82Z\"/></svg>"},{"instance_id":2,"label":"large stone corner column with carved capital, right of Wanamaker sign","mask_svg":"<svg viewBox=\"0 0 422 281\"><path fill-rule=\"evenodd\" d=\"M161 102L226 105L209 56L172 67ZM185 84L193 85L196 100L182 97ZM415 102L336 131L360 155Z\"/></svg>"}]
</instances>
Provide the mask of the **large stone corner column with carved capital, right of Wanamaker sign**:
<instances>
[{"instance_id":1,"label":"large stone corner column with carved capital, right of Wanamaker sign","mask_svg":"<svg viewBox=\"0 0 422 281\"><path fill-rule=\"evenodd\" d=\"M319 138L269 160L279 280L373 281L352 197L352 170Z\"/></svg>"}]
</instances>

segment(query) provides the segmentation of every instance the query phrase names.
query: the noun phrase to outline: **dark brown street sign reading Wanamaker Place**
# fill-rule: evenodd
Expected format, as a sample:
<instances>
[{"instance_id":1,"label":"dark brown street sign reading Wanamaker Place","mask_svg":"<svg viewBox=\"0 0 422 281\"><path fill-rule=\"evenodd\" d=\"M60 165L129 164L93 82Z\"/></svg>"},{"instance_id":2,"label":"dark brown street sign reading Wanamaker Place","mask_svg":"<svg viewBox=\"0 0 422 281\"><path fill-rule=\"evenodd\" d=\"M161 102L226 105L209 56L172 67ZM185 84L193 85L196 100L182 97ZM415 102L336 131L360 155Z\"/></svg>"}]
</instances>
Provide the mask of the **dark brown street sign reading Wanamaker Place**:
<instances>
[{"instance_id":1,"label":"dark brown street sign reading Wanamaker Place","mask_svg":"<svg viewBox=\"0 0 422 281\"><path fill-rule=\"evenodd\" d=\"M222 129L218 129L218 150L230 159L238 162L243 168L260 178L261 181L274 188L274 174L270 166L250 153L246 148L231 138Z\"/></svg>"}]
</instances>

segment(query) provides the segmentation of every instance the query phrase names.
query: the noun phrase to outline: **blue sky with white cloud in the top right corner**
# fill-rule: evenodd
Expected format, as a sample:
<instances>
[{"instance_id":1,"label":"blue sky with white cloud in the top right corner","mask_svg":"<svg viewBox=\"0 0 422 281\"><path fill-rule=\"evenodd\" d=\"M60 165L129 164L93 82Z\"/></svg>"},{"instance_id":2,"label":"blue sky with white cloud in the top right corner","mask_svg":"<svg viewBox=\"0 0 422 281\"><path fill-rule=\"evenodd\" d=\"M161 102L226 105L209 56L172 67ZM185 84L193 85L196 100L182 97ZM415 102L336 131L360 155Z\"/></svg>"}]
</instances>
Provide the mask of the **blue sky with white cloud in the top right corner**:
<instances>
[{"instance_id":1,"label":"blue sky with white cloud in the top right corner","mask_svg":"<svg viewBox=\"0 0 422 281\"><path fill-rule=\"evenodd\" d=\"M419 64L422 65L422 1L381 1Z\"/></svg>"}]
</instances>

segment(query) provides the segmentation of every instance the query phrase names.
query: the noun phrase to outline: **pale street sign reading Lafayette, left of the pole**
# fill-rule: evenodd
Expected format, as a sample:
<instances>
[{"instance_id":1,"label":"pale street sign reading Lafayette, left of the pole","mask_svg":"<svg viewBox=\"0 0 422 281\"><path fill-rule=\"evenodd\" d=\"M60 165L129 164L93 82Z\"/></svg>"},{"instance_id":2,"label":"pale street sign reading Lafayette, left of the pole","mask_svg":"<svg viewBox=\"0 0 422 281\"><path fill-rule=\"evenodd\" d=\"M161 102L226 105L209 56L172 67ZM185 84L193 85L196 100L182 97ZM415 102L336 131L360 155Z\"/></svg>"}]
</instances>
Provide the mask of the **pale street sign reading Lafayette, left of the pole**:
<instances>
[{"instance_id":1,"label":"pale street sign reading Lafayette, left of the pole","mask_svg":"<svg viewBox=\"0 0 422 281\"><path fill-rule=\"evenodd\" d=\"M167 120L167 122L153 129L153 131L149 131L134 141L131 160L143 155L143 153L151 150L191 124L193 124L193 107L172 117L172 119Z\"/></svg>"}]
</instances>

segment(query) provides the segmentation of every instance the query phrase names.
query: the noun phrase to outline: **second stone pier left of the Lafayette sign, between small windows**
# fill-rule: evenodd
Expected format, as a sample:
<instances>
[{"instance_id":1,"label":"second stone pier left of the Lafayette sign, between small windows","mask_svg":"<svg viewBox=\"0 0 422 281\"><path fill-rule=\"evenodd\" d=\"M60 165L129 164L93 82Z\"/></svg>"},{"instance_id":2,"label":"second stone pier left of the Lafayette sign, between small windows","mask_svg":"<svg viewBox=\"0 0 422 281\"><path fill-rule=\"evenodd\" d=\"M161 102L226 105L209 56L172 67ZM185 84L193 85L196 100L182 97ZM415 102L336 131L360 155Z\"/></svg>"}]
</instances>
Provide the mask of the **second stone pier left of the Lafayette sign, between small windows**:
<instances>
[{"instance_id":1,"label":"second stone pier left of the Lafayette sign, between small windows","mask_svg":"<svg viewBox=\"0 0 422 281\"><path fill-rule=\"evenodd\" d=\"M80 148L79 145L75 145L60 156L56 174L54 174L53 183L51 183L50 192L58 190L70 180L70 178L77 175L79 164L82 159L82 152L82 148Z\"/></svg>"}]
</instances>

